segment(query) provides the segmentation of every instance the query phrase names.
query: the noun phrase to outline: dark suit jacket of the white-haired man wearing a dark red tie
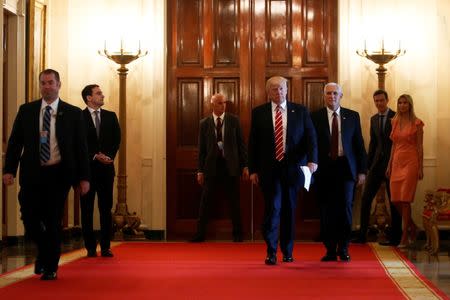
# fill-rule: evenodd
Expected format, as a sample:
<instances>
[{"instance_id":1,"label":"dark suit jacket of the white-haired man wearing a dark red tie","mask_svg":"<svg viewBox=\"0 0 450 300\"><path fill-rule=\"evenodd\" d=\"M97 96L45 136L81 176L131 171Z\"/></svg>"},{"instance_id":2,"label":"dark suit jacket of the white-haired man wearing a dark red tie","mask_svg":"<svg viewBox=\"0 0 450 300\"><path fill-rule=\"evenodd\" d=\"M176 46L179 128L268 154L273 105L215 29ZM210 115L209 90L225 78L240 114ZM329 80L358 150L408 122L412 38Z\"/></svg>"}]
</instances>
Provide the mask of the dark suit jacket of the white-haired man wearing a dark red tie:
<instances>
[{"instance_id":1,"label":"dark suit jacket of the white-haired man wearing a dark red tie","mask_svg":"<svg viewBox=\"0 0 450 300\"><path fill-rule=\"evenodd\" d=\"M356 180L358 174L365 174L367 171L367 155L361 132L361 122L356 111L341 107L340 115L342 147L351 175ZM331 133L326 107L312 113L311 117L317 131L319 144L319 167L316 176L320 176L322 172L326 172L331 162Z\"/></svg>"}]
</instances>

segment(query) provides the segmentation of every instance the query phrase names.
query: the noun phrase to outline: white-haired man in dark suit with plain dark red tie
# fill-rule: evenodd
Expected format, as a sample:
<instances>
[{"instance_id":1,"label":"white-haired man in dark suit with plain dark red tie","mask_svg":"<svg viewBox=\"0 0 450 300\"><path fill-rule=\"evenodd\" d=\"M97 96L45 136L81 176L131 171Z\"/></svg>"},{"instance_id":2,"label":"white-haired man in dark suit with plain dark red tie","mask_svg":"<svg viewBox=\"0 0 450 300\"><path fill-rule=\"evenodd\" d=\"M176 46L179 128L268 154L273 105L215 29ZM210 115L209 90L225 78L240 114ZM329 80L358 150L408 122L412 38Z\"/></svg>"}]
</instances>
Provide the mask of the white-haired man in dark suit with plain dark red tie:
<instances>
[{"instance_id":1,"label":"white-haired man in dark suit with plain dark red tie","mask_svg":"<svg viewBox=\"0 0 450 300\"><path fill-rule=\"evenodd\" d=\"M366 173L359 114L341 107L341 98L340 85L326 84L326 107L312 114L319 145L319 168L314 176L321 236L327 251L322 261L336 261L338 256L341 261L350 261L348 245L355 183L363 184Z\"/></svg>"}]
</instances>

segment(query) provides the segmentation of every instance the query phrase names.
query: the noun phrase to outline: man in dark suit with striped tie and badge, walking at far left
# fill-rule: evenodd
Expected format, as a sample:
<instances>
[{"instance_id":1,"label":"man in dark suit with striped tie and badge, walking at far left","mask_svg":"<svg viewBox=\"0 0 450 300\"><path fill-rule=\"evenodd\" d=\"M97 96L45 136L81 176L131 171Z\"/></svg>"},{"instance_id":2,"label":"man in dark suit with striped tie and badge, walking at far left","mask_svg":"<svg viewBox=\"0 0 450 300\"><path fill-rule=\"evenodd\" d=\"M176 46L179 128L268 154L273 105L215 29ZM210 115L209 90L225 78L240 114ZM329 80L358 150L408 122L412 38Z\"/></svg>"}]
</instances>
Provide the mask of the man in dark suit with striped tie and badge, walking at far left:
<instances>
[{"instance_id":1,"label":"man in dark suit with striped tie and badge, walking at far left","mask_svg":"<svg viewBox=\"0 0 450 300\"><path fill-rule=\"evenodd\" d=\"M89 162L81 110L59 98L59 73L39 74L42 99L20 106L6 150L3 182L14 183L20 163L20 211L37 245L34 272L54 280L61 255L64 204L72 185L89 190Z\"/></svg>"}]
</instances>

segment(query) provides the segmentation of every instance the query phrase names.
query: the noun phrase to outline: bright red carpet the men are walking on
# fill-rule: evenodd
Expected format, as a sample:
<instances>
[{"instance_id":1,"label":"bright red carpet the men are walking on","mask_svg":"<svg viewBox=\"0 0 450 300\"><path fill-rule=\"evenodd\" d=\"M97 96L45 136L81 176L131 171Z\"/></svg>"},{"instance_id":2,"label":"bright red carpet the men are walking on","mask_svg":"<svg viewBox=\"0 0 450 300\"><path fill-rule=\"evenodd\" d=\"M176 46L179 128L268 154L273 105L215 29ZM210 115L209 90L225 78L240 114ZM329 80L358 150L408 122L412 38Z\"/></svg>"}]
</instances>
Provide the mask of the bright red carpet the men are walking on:
<instances>
[{"instance_id":1,"label":"bright red carpet the men are walking on","mask_svg":"<svg viewBox=\"0 0 450 300\"><path fill-rule=\"evenodd\" d=\"M58 280L44 282L32 276L1 288L0 299L411 297L388 275L371 247L352 245L350 250L350 263L322 263L321 244L298 243L294 263L266 266L262 243L124 243L114 247L112 259L75 260L60 267ZM434 299L448 299L419 275L413 277Z\"/></svg>"}]
</instances>

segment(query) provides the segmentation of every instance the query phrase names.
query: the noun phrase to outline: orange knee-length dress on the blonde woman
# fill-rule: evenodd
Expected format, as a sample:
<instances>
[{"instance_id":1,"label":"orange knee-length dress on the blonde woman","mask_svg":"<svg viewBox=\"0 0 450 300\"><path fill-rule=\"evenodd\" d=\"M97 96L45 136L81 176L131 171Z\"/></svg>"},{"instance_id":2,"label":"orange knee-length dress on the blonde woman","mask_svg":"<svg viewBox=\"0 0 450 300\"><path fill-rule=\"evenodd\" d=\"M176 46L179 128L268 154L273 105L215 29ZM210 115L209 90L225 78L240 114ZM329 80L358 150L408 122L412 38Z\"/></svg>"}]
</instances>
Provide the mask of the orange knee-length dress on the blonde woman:
<instances>
[{"instance_id":1,"label":"orange knee-length dress on the blonde woman","mask_svg":"<svg viewBox=\"0 0 450 300\"><path fill-rule=\"evenodd\" d=\"M400 130L398 120L392 120L391 201L413 202L419 180L419 153L417 130L423 128L421 120Z\"/></svg>"}]
</instances>

